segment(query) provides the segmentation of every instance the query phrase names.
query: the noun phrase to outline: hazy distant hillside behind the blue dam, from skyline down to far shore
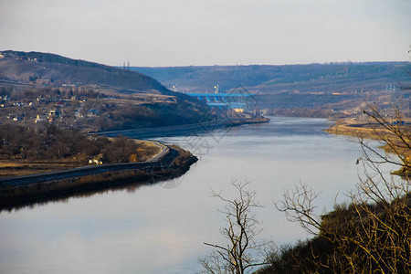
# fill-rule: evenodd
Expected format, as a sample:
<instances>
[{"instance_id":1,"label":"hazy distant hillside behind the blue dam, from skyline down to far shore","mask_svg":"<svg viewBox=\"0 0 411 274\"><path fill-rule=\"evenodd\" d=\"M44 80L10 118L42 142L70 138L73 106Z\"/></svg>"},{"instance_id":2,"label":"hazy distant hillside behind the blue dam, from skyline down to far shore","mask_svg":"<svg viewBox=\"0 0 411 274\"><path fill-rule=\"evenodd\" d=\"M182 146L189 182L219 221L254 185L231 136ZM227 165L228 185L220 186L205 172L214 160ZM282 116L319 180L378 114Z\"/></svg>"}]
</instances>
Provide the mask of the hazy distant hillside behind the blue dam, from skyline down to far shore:
<instances>
[{"instance_id":1,"label":"hazy distant hillside behind the blue dam, from skyline down to far shore","mask_svg":"<svg viewBox=\"0 0 411 274\"><path fill-rule=\"evenodd\" d=\"M132 68L181 92L248 90L269 114L341 117L361 105L407 100L409 62ZM173 86L175 88L173 88ZM403 101L404 103L404 101Z\"/></svg>"}]
</instances>

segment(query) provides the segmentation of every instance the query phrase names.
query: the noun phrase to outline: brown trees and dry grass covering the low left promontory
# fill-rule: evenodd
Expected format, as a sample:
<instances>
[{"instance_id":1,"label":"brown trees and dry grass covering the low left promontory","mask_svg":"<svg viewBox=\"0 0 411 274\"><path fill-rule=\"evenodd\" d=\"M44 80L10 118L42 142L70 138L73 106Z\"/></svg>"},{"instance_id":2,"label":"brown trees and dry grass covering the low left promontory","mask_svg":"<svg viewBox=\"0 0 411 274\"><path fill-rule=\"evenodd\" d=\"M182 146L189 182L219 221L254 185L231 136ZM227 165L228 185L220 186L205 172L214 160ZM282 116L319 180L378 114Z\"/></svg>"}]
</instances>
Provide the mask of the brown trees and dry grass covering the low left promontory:
<instances>
[{"instance_id":1,"label":"brown trees and dry grass covering the low left promontory","mask_svg":"<svg viewBox=\"0 0 411 274\"><path fill-rule=\"evenodd\" d=\"M151 142L119 136L87 136L54 125L26 128L0 125L0 175L38 174L97 163L143 162L160 149Z\"/></svg>"}]
</instances>

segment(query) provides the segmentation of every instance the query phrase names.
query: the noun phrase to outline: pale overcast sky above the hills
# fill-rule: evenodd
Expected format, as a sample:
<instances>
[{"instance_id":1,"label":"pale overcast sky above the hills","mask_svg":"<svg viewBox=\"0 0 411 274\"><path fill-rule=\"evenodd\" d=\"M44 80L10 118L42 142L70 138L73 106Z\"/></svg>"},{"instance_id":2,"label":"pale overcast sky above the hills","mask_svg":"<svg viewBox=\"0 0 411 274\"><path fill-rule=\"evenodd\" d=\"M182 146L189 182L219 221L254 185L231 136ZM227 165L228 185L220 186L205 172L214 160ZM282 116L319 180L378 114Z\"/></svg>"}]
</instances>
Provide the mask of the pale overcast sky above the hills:
<instances>
[{"instance_id":1,"label":"pale overcast sky above the hills","mask_svg":"<svg viewBox=\"0 0 411 274\"><path fill-rule=\"evenodd\" d=\"M411 0L0 0L0 50L112 66L410 61Z\"/></svg>"}]
</instances>

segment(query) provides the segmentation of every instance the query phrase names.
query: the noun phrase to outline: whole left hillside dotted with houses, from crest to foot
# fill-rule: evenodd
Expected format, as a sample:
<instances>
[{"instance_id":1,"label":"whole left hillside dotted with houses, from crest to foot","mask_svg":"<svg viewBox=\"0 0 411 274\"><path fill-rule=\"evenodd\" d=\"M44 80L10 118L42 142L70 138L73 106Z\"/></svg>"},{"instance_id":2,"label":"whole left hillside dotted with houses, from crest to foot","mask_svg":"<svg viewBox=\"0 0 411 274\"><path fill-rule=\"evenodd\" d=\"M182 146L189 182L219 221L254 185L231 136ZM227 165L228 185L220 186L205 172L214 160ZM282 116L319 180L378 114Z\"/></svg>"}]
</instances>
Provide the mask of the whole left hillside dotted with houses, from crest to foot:
<instances>
[{"instance_id":1,"label":"whole left hillside dotted with houses, from crest to foot","mask_svg":"<svg viewBox=\"0 0 411 274\"><path fill-rule=\"evenodd\" d=\"M19 51L1 52L0 103L0 123L84 132L194 123L209 112L205 103L138 72Z\"/></svg>"}]
</instances>

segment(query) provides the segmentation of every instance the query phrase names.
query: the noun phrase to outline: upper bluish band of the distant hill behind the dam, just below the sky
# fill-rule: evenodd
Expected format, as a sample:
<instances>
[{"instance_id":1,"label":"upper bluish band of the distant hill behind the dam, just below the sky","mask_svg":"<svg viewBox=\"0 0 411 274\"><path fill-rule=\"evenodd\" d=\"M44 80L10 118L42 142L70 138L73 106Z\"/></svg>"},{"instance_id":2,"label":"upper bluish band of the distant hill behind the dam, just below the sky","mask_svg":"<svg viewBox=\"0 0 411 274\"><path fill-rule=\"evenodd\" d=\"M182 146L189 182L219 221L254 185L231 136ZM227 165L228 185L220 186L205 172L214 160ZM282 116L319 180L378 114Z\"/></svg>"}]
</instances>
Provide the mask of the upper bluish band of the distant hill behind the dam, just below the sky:
<instances>
[{"instance_id":1,"label":"upper bluish band of the distant hill behind the dam, just below the sky","mask_svg":"<svg viewBox=\"0 0 411 274\"><path fill-rule=\"evenodd\" d=\"M169 89L198 92L229 91L238 85L252 93L342 92L397 89L411 84L409 62L335 63L283 66L133 67L158 79Z\"/></svg>"}]
</instances>

